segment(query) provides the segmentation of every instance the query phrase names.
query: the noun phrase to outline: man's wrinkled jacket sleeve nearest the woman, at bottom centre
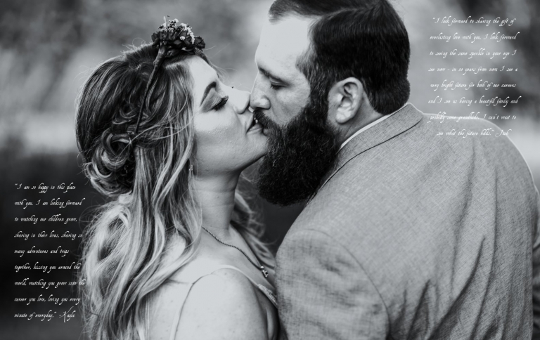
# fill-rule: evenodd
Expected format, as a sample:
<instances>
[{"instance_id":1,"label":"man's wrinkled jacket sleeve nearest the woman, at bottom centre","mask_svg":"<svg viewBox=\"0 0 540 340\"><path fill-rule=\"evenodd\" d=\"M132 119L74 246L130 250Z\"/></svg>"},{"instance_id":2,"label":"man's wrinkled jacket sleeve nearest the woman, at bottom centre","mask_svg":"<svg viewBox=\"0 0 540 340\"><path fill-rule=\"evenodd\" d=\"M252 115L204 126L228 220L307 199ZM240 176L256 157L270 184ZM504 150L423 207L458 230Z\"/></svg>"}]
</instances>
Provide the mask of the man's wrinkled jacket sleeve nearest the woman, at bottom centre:
<instances>
[{"instance_id":1,"label":"man's wrinkled jacket sleeve nearest the woman, at bottom centre","mask_svg":"<svg viewBox=\"0 0 540 340\"><path fill-rule=\"evenodd\" d=\"M385 339L387 310L352 254L316 230L287 235L277 256L282 332L289 340Z\"/></svg>"}]
</instances>

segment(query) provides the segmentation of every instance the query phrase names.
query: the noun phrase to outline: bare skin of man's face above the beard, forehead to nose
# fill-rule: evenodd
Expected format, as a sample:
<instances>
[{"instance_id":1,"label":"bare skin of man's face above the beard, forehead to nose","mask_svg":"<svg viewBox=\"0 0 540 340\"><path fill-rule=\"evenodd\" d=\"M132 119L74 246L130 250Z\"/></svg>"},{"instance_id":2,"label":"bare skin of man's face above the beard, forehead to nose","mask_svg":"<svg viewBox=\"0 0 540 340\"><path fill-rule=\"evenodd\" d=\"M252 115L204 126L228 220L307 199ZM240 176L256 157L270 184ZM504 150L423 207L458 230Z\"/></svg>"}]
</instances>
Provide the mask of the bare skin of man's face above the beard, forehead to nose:
<instances>
[{"instance_id":1,"label":"bare skin of man's face above the beard, forehead to nose","mask_svg":"<svg viewBox=\"0 0 540 340\"><path fill-rule=\"evenodd\" d=\"M309 100L309 82L297 67L309 47L310 19L288 15L278 22L265 22L255 63L259 69L251 92L250 106L285 126Z\"/></svg>"}]
</instances>

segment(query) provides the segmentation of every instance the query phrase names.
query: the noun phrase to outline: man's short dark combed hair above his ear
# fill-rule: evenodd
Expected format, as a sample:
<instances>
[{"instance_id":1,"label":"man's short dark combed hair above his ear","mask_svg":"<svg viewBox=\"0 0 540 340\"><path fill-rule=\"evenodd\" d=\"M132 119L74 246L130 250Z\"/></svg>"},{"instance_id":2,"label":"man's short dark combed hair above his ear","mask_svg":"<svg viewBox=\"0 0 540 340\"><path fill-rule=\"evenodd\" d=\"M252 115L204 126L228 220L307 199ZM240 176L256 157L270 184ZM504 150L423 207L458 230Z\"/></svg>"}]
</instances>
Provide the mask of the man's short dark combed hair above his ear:
<instances>
[{"instance_id":1,"label":"man's short dark combed hair above his ear","mask_svg":"<svg viewBox=\"0 0 540 340\"><path fill-rule=\"evenodd\" d=\"M276 0L269 19L290 14L316 18L309 50L297 63L312 95L326 98L333 84L355 77L383 115L409 99L409 36L387 0Z\"/></svg>"}]
</instances>

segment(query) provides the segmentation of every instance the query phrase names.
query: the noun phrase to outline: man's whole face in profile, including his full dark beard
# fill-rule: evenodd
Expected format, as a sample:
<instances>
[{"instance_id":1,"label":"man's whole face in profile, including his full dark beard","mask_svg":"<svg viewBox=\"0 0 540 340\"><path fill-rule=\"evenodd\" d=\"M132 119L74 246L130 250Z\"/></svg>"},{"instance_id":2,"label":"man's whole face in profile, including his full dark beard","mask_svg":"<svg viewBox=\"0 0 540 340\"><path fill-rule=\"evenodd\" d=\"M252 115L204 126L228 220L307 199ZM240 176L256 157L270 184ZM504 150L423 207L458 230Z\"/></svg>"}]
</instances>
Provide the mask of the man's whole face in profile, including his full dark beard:
<instances>
[{"instance_id":1,"label":"man's whole face in profile, including his full dark beard","mask_svg":"<svg viewBox=\"0 0 540 340\"><path fill-rule=\"evenodd\" d=\"M274 204L289 205L313 195L338 152L327 122L327 94L311 93L297 67L309 46L310 23L295 16L266 22L255 57L259 74L250 106L268 136L257 189Z\"/></svg>"}]
</instances>

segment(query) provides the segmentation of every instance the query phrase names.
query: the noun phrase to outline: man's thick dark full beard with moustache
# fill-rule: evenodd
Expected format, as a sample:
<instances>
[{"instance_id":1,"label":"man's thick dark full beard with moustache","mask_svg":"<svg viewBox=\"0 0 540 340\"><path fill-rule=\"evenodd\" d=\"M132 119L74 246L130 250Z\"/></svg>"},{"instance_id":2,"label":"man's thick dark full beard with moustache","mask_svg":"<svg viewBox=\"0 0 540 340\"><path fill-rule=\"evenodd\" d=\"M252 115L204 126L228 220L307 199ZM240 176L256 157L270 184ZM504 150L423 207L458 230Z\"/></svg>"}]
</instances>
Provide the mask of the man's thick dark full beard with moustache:
<instances>
[{"instance_id":1,"label":"man's thick dark full beard with moustache","mask_svg":"<svg viewBox=\"0 0 540 340\"><path fill-rule=\"evenodd\" d=\"M313 195L338 154L335 134L328 125L328 104L311 96L286 126L279 126L255 110L268 135L268 152L259 166L259 195L286 206Z\"/></svg>"}]
</instances>

